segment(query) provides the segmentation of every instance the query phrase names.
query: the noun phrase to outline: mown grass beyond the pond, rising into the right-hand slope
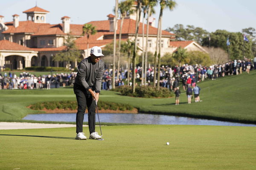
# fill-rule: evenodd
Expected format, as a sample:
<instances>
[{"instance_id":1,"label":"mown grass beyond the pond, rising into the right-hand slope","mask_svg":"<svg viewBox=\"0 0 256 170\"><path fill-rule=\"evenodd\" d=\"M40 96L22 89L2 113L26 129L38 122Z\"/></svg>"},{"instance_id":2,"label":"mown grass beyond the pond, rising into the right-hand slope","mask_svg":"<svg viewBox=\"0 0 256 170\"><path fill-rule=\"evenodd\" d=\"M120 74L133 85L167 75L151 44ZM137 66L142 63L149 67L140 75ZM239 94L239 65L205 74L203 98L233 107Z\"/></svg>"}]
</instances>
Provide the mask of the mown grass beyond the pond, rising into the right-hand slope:
<instances>
[{"instance_id":1,"label":"mown grass beyond the pond, rising into the right-hand slope","mask_svg":"<svg viewBox=\"0 0 256 170\"><path fill-rule=\"evenodd\" d=\"M256 124L256 71L199 83L203 102L187 104L186 94L175 98L146 99L102 91L100 100L128 103L140 112L189 116L196 118ZM20 121L28 113L38 113L26 106L36 102L76 100L72 88L51 90L0 90L0 121Z\"/></svg>"}]
</instances>

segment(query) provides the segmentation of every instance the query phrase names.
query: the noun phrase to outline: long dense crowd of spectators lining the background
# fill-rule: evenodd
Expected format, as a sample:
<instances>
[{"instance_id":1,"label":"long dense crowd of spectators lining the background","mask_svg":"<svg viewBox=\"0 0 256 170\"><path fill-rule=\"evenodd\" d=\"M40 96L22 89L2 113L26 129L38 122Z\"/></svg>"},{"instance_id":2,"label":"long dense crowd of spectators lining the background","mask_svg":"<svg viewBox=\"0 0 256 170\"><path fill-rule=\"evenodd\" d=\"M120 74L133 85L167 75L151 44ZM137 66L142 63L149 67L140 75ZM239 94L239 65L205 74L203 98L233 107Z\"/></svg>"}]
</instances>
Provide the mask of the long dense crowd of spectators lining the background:
<instances>
[{"instance_id":1,"label":"long dense crowd of spectators lining the background","mask_svg":"<svg viewBox=\"0 0 256 170\"><path fill-rule=\"evenodd\" d=\"M177 87L182 85L183 90L186 90L188 85L194 88L197 82L204 81L205 79L215 80L219 77L238 75L245 71L249 74L251 69L256 69L256 57L254 57L253 62L250 59L235 59L222 65L210 65L208 67L198 64L175 65L174 67L163 65L160 68L160 86L175 91ZM135 73L136 78L141 79L142 69L140 66L136 68ZM154 67L148 68L146 73L146 85L153 85ZM128 74L130 74L128 85L132 85L132 70L127 71L121 68L119 74L117 74L116 70L115 86L125 85ZM112 89L112 75L113 69L106 68L102 79L103 90ZM50 89L51 85L55 88L65 87L73 85L75 77L76 72L71 72L70 74L48 74L39 77L27 72L20 73L19 76L9 72L8 75L6 73L4 75L0 74L0 89ZM154 83L157 83L157 81Z\"/></svg>"}]
</instances>

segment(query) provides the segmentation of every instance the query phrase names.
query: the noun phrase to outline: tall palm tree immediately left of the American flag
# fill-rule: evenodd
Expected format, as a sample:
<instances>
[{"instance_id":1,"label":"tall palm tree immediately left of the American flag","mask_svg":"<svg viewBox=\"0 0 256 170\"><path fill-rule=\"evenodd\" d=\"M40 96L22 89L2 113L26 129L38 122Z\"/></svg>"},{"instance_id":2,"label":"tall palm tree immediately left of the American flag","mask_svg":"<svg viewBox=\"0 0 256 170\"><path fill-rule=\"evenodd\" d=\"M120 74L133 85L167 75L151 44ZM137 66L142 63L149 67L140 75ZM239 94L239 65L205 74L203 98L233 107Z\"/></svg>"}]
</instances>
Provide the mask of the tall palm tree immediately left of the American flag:
<instances>
[{"instance_id":1,"label":"tall palm tree immediately left of the American flag","mask_svg":"<svg viewBox=\"0 0 256 170\"><path fill-rule=\"evenodd\" d=\"M145 5L145 9L143 10L144 15L143 17L145 17L145 12L147 11L147 31L146 31L146 49L145 49L145 66L144 66L144 75L145 75L145 79L144 79L144 84L146 84L147 82L147 61L148 61L148 28L149 28L149 17L151 16L151 14L154 14L154 6L156 6L157 4L157 0L144 0L144 5ZM143 22L144 22L144 18L143 18ZM143 23L144 25L144 23ZM144 33L144 32L143 32Z\"/></svg>"}]
</instances>

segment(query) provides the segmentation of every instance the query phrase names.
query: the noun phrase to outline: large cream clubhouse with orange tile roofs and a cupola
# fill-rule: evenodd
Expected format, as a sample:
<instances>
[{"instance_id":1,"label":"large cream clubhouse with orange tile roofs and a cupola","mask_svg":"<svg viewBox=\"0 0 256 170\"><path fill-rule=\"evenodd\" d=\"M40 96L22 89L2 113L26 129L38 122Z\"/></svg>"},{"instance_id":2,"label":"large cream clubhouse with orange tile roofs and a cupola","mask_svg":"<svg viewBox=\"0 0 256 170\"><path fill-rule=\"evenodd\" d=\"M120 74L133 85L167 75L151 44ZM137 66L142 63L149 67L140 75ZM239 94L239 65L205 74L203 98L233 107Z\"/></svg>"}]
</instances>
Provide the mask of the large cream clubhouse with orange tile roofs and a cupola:
<instances>
[{"instance_id":1,"label":"large cream clubhouse with orange tile roofs and a cupola","mask_svg":"<svg viewBox=\"0 0 256 170\"><path fill-rule=\"evenodd\" d=\"M114 15L109 14L107 20L91 21L87 24L96 26L97 33L91 35L89 49L87 51L87 37L82 36L83 25L70 24L70 17L61 18L62 23L47 23L49 11L35 6L26 11L26 21L20 21L19 15L13 15L12 22L4 22L4 16L0 15L0 68L23 69L31 66L52 66L66 67L65 62L53 61L52 57L66 47L63 45L68 34L76 38L76 46L81 51L81 59L89 56L90 48L97 45L104 48L111 43L114 37ZM125 17L122 26L122 40L135 39L135 14ZM120 23L118 20L116 30L117 40L119 37ZM137 45L142 49L143 44L143 23L140 23ZM146 24L144 24L146 30ZM148 51L154 53L157 39L157 28L154 27L154 20L149 26ZM173 53L179 46L188 51L204 51L194 41L174 41L175 34L162 31L162 54ZM146 41L146 31L144 45ZM72 62L71 68L75 68L76 62Z\"/></svg>"}]
</instances>

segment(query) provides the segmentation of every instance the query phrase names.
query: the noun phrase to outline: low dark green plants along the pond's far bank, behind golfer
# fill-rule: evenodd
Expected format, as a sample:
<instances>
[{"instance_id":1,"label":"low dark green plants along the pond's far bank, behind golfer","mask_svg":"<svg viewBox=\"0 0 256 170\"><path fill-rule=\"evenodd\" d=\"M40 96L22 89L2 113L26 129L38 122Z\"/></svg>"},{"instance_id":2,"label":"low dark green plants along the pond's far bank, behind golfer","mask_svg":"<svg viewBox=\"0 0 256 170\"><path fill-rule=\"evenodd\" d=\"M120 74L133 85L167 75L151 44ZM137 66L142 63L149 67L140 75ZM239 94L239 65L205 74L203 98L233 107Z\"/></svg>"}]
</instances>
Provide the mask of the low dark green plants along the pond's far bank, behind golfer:
<instances>
[{"instance_id":1,"label":"low dark green plants along the pond's far bank, behind golfer","mask_svg":"<svg viewBox=\"0 0 256 170\"><path fill-rule=\"evenodd\" d=\"M77 103L76 101L52 101L52 102L38 102L30 106L33 110L43 110L44 108L48 110L54 110L54 109L64 109L64 110L76 110L77 109ZM99 110L102 109L110 109L110 110L120 110L120 111L131 111L134 107L128 104L121 104L121 103L114 103L114 102L98 102L98 108Z\"/></svg>"}]
</instances>

